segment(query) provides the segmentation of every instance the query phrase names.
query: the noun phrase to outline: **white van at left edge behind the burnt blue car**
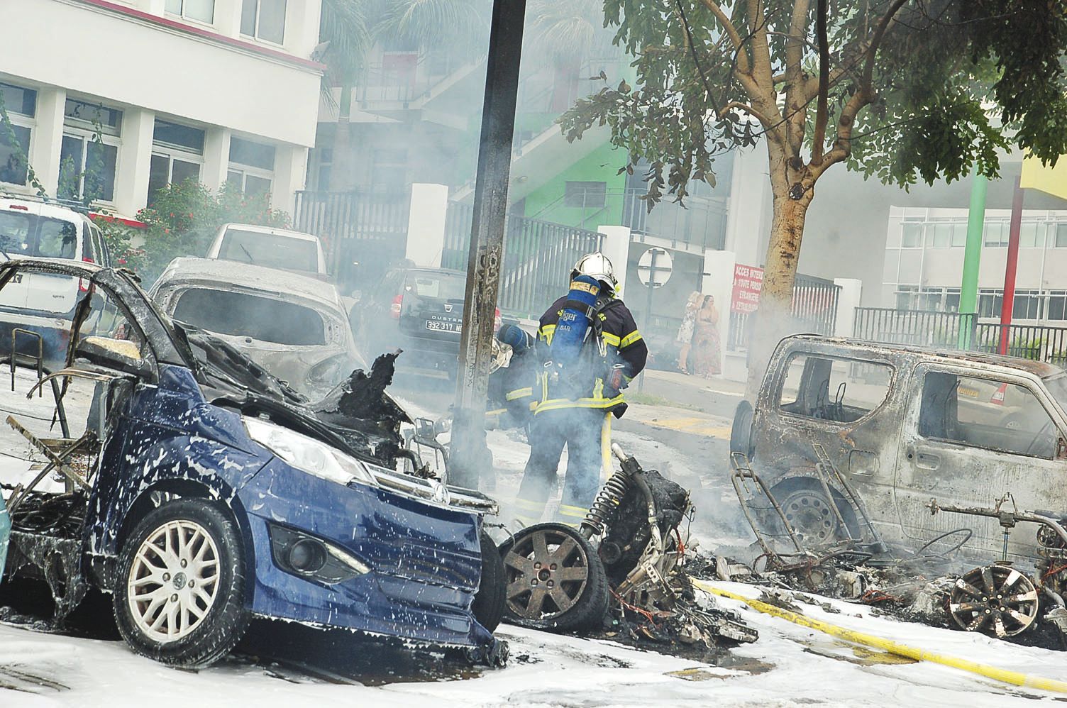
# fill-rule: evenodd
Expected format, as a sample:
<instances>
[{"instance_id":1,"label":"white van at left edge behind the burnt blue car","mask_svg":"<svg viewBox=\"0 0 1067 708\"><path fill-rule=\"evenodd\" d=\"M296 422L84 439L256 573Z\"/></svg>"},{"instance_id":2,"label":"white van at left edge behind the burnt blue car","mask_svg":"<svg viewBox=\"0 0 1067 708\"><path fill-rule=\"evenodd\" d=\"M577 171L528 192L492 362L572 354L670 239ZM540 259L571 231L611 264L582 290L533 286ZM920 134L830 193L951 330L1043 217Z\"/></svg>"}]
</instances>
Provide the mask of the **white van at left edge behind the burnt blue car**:
<instances>
[{"instance_id":1,"label":"white van at left edge behind the burnt blue car","mask_svg":"<svg viewBox=\"0 0 1067 708\"><path fill-rule=\"evenodd\" d=\"M111 266L111 256L100 229L87 210L35 199L0 196L0 260L43 258ZM46 366L60 363L66 352L65 333L75 305L86 292L86 284L67 275L29 273L0 290L0 358L12 351L12 333L17 351L35 354L37 337L44 348ZM95 326L98 312L85 325Z\"/></svg>"}]
</instances>

